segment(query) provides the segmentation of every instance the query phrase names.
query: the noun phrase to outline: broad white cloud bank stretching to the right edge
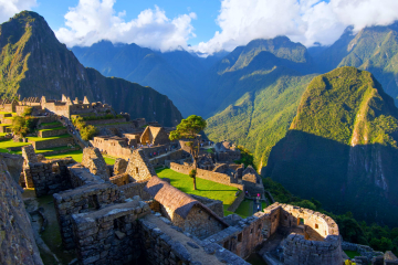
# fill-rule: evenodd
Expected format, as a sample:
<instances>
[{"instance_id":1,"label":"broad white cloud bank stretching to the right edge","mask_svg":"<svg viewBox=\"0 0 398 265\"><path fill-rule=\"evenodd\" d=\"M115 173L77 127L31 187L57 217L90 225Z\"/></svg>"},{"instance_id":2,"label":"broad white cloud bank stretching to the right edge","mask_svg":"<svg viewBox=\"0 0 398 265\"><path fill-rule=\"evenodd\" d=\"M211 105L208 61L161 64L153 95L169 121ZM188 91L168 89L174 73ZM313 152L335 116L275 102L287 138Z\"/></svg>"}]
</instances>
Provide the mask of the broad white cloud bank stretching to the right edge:
<instances>
[{"instance_id":1,"label":"broad white cloud bank stretching to the right edge","mask_svg":"<svg viewBox=\"0 0 398 265\"><path fill-rule=\"evenodd\" d=\"M231 51L251 40L287 35L311 46L329 45L348 25L355 31L398 19L398 0L222 0L216 32L192 47L203 53Z\"/></svg>"}]
</instances>

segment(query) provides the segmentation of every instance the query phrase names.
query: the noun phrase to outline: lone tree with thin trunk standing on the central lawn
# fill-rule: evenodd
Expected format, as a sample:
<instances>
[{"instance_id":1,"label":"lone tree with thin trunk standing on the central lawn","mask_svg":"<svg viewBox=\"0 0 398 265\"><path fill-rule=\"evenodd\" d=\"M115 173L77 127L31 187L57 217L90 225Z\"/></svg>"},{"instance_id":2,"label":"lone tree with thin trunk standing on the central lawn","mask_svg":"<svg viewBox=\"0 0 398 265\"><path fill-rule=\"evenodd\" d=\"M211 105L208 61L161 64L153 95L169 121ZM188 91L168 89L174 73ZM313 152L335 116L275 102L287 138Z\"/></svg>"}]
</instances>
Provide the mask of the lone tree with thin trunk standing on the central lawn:
<instances>
[{"instance_id":1,"label":"lone tree with thin trunk standing on the central lawn","mask_svg":"<svg viewBox=\"0 0 398 265\"><path fill-rule=\"evenodd\" d=\"M177 125L176 130L170 132L170 140L187 140L186 146L189 148L189 152L193 159L193 170L189 176L193 180L193 190L196 190L196 172L198 168L198 158L200 150L200 135L199 132L206 128L206 120L197 115L191 115L186 119L182 119Z\"/></svg>"}]
</instances>

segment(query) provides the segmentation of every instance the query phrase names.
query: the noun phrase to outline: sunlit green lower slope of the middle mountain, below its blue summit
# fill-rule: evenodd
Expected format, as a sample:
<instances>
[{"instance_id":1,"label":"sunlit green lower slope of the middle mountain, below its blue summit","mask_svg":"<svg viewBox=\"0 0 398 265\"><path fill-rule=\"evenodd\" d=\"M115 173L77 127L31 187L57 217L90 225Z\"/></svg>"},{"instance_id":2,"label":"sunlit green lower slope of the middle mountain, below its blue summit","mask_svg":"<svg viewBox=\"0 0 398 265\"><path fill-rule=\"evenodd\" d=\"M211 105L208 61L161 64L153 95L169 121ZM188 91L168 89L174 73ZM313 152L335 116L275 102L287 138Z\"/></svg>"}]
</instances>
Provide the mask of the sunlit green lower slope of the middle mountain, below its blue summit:
<instances>
[{"instance_id":1,"label":"sunlit green lower slope of the middle mountain, below its blue summit","mask_svg":"<svg viewBox=\"0 0 398 265\"><path fill-rule=\"evenodd\" d=\"M275 68L275 72L279 70ZM282 139L291 125L300 97L313 75L290 76L254 74L242 86L258 89L244 94L233 105L209 118L206 134L210 139L230 139L254 153L258 166L265 166L271 148ZM272 84L262 82L271 77ZM242 81L243 82L243 81Z\"/></svg>"}]
</instances>

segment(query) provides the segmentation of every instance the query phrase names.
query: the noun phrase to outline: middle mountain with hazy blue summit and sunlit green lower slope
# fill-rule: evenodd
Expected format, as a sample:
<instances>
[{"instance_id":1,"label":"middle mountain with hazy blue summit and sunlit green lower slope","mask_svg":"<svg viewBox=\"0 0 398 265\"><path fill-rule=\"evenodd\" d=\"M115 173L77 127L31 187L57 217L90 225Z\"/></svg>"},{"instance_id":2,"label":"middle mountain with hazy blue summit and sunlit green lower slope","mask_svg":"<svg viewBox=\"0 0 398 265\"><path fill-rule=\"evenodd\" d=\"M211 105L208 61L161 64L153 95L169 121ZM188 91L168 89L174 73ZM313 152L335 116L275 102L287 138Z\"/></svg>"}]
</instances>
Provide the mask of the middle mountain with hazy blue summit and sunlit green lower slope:
<instances>
[{"instance_id":1,"label":"middle mountain with hazy blue summit and sunlit green lower slope","mask_svg":"<svg viewBox=\"0 0 398 265\"><path fill-rule=\"evenodd\" d=\"M259 168L265 166L315 76L306 74L312 67L306 49L287 38L237 47L213 66L203 85L209 94L205 109L214 114L208 118L206 134L213 140L243 145L253 151Z\"/></svg>"}]
</instances>

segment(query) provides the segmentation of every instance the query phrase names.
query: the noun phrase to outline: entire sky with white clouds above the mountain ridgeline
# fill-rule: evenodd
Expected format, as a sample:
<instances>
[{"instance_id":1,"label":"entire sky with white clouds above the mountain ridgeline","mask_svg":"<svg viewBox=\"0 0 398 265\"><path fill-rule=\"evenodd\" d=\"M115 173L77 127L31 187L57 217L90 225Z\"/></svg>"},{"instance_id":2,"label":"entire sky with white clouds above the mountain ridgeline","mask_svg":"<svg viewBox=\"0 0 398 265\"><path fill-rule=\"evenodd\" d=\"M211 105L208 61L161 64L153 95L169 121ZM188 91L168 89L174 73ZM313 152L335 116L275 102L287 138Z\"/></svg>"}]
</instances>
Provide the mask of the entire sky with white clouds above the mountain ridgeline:
<instances>
[{"instance_id":1,"label":"entire sky with white clouds above the mountain ridgeline","mask_svg":"<svg viewBox=\"0 0 398 265\"><path fill-rule=\"evenodd\" d=\"M22 10L44 17L69 47L101 40L212 54L286 35L312 46L398 20L398 0L0 0L0 23Z\"/></svg>"}]
</instances>

